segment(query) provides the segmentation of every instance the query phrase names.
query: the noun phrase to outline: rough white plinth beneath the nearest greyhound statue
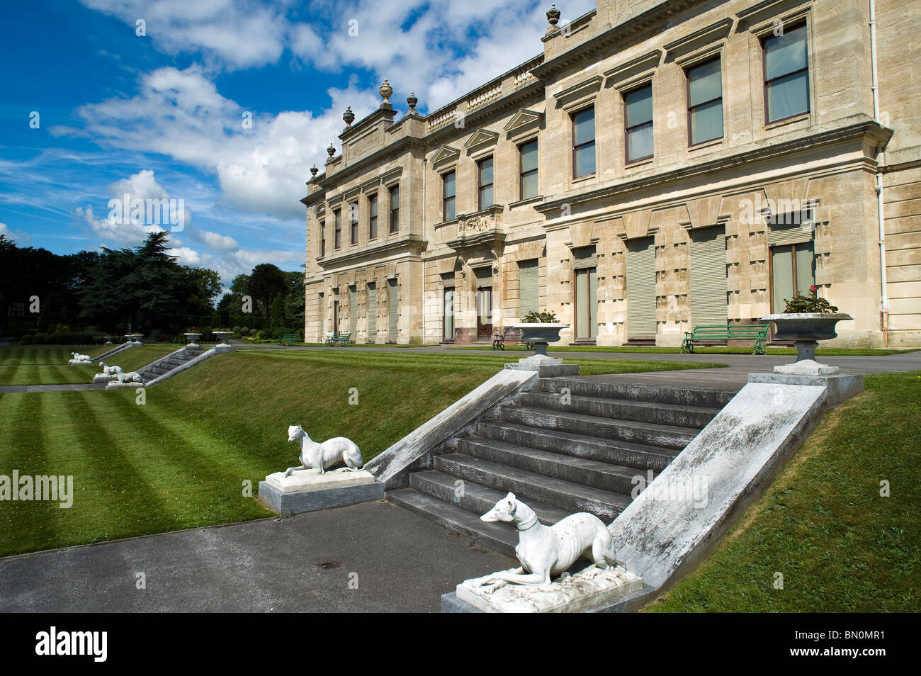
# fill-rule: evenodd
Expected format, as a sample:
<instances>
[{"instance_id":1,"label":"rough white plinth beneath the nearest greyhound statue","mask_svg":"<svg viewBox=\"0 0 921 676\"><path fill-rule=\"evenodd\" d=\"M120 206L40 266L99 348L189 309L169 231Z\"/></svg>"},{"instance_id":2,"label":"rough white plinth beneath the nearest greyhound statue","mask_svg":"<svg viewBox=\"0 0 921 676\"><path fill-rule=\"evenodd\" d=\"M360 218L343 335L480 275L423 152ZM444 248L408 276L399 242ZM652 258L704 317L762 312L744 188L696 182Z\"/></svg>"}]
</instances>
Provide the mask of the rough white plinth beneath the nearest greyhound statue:
<instances>
[{"instance_id":1,"label":"rough white plinth beneath the nearest greyhound statue","mask_svg":"<svg viewBox=\"0 0 921 676\"><path fill-rule=\"evenodd\" d=\"M643 579L621 565L606 570L589 565L546 587L489 583L489 577L464 580L457 587L457 598L481 612L578 612L643 589Z\"/></svg>"}]
</instances>

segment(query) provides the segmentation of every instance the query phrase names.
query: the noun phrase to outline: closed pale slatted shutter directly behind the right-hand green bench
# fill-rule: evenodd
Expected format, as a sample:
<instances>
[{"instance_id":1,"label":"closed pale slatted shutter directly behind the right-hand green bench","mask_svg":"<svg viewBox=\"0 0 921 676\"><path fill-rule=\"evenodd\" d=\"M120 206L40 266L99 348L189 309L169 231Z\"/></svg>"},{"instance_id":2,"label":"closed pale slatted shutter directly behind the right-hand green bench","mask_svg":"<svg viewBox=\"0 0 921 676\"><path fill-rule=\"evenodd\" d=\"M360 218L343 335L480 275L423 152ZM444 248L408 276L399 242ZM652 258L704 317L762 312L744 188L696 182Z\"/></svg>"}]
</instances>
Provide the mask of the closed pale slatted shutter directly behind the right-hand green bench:
<instances>
[{"instance_id":1,"label":"closed pale slatted shutter directly behind the right-hand green bench","mask_svg":"<svg viewBox=\"0 0 921 676\"><path fill-rule=\"evenodd\" d=\"M728 320L726 233L721 227L691 232L691 321L694 326Z\"/></svg>"}]
</instances>

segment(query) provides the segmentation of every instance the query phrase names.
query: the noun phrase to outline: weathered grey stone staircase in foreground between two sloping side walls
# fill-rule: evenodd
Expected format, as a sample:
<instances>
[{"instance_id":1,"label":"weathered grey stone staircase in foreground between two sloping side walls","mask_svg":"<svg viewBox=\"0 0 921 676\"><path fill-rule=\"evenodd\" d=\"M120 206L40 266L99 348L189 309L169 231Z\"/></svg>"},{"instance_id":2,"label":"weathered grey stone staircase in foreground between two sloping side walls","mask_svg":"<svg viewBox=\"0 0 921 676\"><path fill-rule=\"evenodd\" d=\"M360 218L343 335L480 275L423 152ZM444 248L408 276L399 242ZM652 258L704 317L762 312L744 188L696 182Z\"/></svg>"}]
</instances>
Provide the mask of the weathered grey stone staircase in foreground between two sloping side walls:
<instances>
[{"instance_id":1,"label":"weathered grey stone staircase in foreground between two sloping side walls","mask_svg":"<svg viewBox=\"0 0 921 676\"><path fill-rule=\"evenodd\" d=\"M388 499L514 556L516 530L480 520L508 491L545 524L580 511L610 523L630 504L635 477L647 484L647 472L661 472L735 393L611 378L540 379Z\"/></svg>"}]
</instances>

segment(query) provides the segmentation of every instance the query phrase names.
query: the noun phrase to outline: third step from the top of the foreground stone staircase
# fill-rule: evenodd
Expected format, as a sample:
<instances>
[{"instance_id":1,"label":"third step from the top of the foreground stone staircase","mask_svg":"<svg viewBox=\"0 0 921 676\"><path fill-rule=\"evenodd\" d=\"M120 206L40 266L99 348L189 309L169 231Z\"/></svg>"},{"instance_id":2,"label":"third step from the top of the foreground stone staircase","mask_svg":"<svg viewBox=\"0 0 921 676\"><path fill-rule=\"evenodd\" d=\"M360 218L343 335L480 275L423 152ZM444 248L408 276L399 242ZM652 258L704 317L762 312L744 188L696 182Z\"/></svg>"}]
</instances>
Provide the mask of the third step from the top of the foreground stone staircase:
<instances>
[{"instance_id":1,"label":"third step from the top of the foreground stone staircase","mask_svg":"<svg viewBox=\"0 0 921 676\"><path fill-rule=\"evenodd\" d=\"M682 450L700 432L693 427L655 425L517 404L502 406L499 411L501 419L508 423L558 429L589 437L619 439L665 449Z\"/></svg>"}]
</instances>

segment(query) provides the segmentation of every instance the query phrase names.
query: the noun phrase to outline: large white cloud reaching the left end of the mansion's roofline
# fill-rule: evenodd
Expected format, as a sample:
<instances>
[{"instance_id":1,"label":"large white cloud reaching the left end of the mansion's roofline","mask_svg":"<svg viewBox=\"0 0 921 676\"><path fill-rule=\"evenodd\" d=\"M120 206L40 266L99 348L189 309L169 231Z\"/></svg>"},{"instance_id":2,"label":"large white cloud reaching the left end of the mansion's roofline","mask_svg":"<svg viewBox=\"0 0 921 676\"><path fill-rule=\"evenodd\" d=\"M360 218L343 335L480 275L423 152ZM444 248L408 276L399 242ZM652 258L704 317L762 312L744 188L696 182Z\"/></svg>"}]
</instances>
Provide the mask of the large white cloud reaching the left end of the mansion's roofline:
<instances>
[{"instance_id":1,"label":"large white cloud reaching the left end of the mansion's roofline","mask_svg":"<svg viewBox=\"0 0 921 676\"><path fill-rule=\"evenodd\" d=\"M54 127L52 134L85 134L102 146L158 153L204 169L216 175L228 203L276 218L303 217L299 200L307 193L309 167L322 164L326 145L342 132L345 107L363 115L379 103L353 83L331 89L332 107L319 115L253 113L245 128L243 113L252 111L221 96L197 67L159 68L139 85L132 99L79 108L82 129Z\"/></svg>"}]
</instances>

